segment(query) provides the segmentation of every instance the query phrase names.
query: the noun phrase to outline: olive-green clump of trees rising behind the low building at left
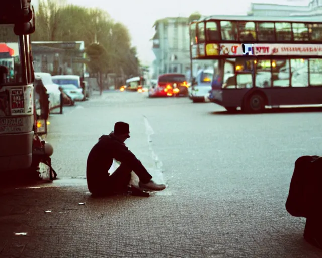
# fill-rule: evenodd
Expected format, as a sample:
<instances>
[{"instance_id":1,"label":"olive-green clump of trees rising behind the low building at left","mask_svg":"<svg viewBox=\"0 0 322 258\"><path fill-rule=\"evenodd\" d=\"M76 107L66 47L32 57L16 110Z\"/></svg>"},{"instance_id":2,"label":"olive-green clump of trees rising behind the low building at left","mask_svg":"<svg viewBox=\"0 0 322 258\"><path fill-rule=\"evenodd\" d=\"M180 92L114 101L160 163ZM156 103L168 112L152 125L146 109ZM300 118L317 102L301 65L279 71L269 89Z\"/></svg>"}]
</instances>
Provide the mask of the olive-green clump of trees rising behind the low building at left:
<instances>
[{"instance_id":1,"label":"olive-green clump of trees rising behind the low building at left","mask_svg":"<svg viewBox=\"0 0 322 258\"><path fill-rule=\"evenodd\" d=\"M100 87L108 73L138 75L139 60L129 31L122 23L115 23L106 11L66 5L65 0L41 0L35 18L33 41L85 42L86 64L97 75ZM100 54L93 55L95 51Z\"/></svg>"}]
</instances>

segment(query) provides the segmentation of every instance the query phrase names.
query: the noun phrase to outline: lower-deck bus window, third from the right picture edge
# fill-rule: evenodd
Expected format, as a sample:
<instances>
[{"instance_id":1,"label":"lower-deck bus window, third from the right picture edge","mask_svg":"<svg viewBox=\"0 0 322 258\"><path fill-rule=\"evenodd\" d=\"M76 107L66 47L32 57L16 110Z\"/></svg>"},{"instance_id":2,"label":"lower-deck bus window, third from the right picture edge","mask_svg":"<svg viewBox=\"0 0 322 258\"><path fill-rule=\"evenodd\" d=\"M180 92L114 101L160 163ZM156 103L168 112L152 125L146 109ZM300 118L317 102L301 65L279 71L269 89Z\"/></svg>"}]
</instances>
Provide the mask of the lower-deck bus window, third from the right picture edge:
<instances>
[{"instance_id":1,"label":"lower-deck bus window, third from the right picture edge","mask_svg":"<svg viewBox=\"0 0 322 258\"><path fill-rule=\"evenodd\" d=\"M290 62L289 59L272 60L272 81L274 87L290 86Z\"/></svg>"}]
</instances>

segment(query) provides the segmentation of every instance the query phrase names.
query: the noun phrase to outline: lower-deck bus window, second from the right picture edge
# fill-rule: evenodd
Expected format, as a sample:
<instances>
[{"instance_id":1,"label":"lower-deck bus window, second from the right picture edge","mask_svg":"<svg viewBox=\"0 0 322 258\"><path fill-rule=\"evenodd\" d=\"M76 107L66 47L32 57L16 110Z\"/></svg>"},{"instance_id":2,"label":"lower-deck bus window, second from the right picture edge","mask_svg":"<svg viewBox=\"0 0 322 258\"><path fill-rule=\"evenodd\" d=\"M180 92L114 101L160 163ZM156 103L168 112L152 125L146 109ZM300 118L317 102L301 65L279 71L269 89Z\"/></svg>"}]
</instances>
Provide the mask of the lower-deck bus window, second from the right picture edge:
<instances>
[{"instance_id":1,"label":"lower-deck bus window, second from the right picture edge","mask_svg":"<svg viewBox=\"0 0 322 258\"><path fill-rule=\"evenodd\" d=\"M308 60L291 59L291 86L308 87Z\"/></svg>"}]
</instances>

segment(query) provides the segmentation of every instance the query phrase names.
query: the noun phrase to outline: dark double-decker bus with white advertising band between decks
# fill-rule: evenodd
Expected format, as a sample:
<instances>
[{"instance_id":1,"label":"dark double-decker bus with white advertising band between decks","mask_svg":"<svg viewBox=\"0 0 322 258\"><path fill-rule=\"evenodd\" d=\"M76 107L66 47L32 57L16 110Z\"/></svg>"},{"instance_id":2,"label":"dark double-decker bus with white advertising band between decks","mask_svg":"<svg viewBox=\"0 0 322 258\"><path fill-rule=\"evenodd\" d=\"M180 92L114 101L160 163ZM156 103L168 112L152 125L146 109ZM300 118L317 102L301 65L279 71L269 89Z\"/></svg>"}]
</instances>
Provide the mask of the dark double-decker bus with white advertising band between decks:
<instances>
[{"instance_id":1,"label":"dark double-decker bus with white advertising band between decks","mask_svg":"<svg viewBox=\"0 0 322 258\"><path fill-rule=\"evenodd\" d=\"M322 104L321 17L207 17L190 24L190 55L217 60L210 100L227 111Z\"/></svg>"}]
</instances>

